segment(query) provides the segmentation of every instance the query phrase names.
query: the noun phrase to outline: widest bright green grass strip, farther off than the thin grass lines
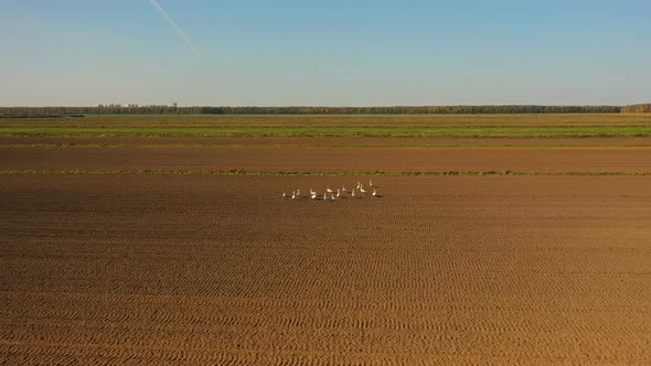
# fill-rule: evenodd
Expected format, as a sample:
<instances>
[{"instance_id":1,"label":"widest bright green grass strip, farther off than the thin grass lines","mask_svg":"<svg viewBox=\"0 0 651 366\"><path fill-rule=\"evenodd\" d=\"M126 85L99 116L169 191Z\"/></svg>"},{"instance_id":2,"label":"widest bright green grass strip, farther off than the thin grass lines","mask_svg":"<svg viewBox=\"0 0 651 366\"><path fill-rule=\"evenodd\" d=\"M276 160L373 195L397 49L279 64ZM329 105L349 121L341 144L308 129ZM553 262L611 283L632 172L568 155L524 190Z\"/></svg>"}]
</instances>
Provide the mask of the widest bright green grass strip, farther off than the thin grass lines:
<instances>
[{"instance_id":1,"label":"widest bright green grass strip, farther off than the thin grass lines","mask_svg":"<svg viewBox=\"0 0 651 366\"><path fill-rule=\"evenodd\" d=\"M651 137L651 127L248 127L237 128L43 128L0 127L0 136L57 137L427 137L427 138L587 138Z\"/></svg>"}]
</instances>

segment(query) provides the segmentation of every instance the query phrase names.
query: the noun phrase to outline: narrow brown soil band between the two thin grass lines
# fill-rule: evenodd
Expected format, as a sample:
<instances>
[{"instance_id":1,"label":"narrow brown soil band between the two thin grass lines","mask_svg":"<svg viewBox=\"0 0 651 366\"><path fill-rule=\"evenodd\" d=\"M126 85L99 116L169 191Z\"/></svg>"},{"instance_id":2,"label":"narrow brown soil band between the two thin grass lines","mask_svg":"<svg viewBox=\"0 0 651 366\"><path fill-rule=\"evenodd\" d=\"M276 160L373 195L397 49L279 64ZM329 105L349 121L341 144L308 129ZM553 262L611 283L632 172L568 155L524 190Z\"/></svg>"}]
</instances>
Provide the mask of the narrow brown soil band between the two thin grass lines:
<instances>
[{"instance_id":1,"label":"narrow brown soil band between the two thin grass lines","mask_svg":"<svg viewBox=\"0 0 651 366\"><path fill-rule=\"evenodd\" d=\"M649 148L12 148L3 170L649 172Z\"/></svg>"}]
</instances>

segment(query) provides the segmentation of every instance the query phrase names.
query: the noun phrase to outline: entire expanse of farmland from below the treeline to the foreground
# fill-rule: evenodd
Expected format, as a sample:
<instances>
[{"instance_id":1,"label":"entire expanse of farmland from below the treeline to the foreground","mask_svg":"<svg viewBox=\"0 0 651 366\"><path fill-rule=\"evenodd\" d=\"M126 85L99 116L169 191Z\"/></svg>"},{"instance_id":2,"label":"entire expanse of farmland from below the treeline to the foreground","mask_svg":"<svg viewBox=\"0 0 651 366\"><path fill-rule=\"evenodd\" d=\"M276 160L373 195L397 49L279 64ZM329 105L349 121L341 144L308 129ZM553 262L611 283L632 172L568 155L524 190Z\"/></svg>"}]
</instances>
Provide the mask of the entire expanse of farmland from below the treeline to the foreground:
<instances>
[{"instance_id":1,"label":"entire expanse of farmland from below the treeline to the foreground","mask_svg":"<svg viewBox=\"0 0 651 366\"><path fill-rule=\"evenodd\" d=\"M648 117L166 118L0 120L0 365L651 364Z\"/></svg>"}]
</instances>

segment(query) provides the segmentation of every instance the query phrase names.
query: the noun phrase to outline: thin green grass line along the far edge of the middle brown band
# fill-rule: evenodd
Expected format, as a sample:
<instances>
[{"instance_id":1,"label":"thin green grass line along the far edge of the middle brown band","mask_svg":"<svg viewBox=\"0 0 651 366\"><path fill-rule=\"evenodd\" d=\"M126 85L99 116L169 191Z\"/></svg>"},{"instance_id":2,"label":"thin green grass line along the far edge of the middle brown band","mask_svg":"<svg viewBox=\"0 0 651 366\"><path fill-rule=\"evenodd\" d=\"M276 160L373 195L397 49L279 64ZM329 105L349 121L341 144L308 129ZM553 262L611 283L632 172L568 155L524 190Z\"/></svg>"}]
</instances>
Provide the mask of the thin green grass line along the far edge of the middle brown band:
<instances>
[{"instance_id":1,"label":"thin green grass line along the far edge of the middle brown band","mask_svg":"<svg viewBox=\"0 0 651 366\"><path fill-rule=\"evenodd\" d=\"M510 144L481 144L481 143L0 143L4 148L96 148L96 149L121 149L121 148L274 148L274 149L296 149L296 148L333 148L333 149L473 149L473 148L508 148L508 149L647 149L649 144L545 144L545 143L510 143Z\"/></svg>"}]
</instances>

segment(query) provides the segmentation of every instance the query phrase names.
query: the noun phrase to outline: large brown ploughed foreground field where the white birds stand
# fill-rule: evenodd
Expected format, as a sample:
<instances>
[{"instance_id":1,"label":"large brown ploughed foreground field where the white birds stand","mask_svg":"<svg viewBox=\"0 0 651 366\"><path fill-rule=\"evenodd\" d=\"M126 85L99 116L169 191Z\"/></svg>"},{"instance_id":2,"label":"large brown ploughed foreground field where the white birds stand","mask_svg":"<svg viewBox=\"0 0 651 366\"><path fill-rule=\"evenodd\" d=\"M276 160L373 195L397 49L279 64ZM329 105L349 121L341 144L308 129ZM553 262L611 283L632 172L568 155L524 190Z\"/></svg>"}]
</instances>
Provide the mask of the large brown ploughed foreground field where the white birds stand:
<instances>
[{"instance_id":1,"label":"large brown ploughed foreground field where the white birds stand","mask_svg":"<svg viewBox=\"0 0 651 366\"><path fill-rule=\"evenodd\" d=\"M651 177L356 180L1 176L0 364L651 363Z\"/></svg>"}]
</instances>

